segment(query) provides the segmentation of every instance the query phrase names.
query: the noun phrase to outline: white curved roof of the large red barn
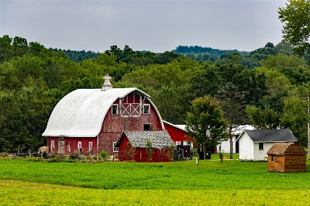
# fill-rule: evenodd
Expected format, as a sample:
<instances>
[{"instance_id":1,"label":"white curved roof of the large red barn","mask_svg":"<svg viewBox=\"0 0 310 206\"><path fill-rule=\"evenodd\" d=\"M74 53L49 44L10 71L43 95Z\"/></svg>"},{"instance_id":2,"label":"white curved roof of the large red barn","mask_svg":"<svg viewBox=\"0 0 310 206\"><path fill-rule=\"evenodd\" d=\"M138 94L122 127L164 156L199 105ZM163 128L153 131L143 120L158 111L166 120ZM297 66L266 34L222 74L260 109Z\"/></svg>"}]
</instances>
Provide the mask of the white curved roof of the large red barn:
<instances>
[{"instance_id":1,"label":"white curved roof of the large red barn","mask_svg":"<svg viewBox=\"0 0 310 206\"><path fill-rule=\"evenodd\" d=\"M131 92L136 92L149 100L149 95L137 88L116 88L105 91L101 89L74 90L63 97L54 107L42 136L97 136L105 115L114 101ZM154 106L161 119L155 105L152 101L149 100L149 102ZM161 125L163 127L162 120Z\"/></svg>"}]
</instances>

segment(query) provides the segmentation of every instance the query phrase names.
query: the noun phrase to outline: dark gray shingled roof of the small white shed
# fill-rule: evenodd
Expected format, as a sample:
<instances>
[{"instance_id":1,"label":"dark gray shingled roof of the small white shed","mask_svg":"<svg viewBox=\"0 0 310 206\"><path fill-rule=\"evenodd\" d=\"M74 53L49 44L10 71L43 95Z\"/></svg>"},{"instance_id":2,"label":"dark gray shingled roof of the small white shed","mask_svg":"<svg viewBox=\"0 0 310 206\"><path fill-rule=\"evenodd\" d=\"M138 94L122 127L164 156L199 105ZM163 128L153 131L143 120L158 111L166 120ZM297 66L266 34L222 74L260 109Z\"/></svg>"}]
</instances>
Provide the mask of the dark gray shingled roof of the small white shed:
<instances>
[{"instance_id":1,"label":"dark gray shingled roof of the small white shed","mask_svg":"<svg viewBox=\"0 0 310 206\"><path fill-rule=\"evenodd\" d=\"M245 130L245 133L255 142L287 142L297 141L289 129L280 130Z\"/></svg>"}]
</instances>

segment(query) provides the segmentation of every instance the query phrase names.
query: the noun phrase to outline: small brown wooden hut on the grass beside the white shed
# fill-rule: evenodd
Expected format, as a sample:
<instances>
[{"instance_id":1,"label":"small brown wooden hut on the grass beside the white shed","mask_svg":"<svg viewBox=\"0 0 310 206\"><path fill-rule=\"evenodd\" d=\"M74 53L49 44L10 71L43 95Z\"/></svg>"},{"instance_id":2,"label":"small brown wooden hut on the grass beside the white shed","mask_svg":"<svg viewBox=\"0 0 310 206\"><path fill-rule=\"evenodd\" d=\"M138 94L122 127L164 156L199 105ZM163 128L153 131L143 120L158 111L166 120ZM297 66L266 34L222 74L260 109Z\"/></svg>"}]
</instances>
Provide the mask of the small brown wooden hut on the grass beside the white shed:
<instances>
[{"instance_id":1,"label":"small brown wooden hut on the grass beside the white shed","mask_svg":"<svg viewBox=\"0 0 310 206\"><path fill-rule=\"evenodd\" d=\"M269 172L306 172L306 156L302 146L276 143L267 152Z\"/></svg>"}]
</instances>

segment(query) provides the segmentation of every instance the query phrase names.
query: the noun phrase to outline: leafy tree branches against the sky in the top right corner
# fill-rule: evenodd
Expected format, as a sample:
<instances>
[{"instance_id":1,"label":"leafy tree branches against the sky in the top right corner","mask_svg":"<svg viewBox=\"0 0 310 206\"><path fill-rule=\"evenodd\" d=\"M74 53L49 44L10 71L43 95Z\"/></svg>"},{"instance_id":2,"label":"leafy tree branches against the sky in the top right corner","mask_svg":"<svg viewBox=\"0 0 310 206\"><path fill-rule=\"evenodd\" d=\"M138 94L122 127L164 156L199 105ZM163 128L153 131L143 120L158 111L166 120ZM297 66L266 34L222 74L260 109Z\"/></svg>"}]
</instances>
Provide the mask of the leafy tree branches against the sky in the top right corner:
<instances>
[{"instance_id":1,"label":"leafy tree branches against the sky in the top right corner","mask_svg":"<svg viewBox=\"0 0 310 206\"><path fill-rule=\"evenodd\" d=\"M298 56L309 54L310 44L310 1L288 0L286 8L279 8L279 19L283 26L283 39L293 46Z\"/></svg>"}]
</instances>

